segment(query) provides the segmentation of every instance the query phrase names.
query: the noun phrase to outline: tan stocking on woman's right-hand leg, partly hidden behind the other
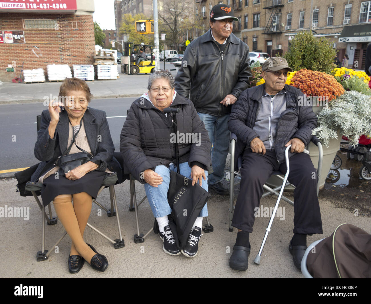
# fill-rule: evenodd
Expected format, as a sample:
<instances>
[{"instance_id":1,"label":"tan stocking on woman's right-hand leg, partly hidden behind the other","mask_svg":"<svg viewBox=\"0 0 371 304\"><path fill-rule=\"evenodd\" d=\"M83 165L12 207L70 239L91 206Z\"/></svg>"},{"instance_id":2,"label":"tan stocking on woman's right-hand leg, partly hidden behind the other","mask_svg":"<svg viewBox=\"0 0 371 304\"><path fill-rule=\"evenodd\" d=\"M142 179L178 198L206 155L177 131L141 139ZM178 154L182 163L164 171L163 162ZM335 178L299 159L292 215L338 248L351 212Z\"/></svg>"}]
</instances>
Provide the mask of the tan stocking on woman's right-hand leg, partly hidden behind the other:
<instances>
[{"instance_id":1,"label":"tan stocking on woman's right-hand leg, partly hidden behind the other","mask_svg":"<svg viewBox=\"0 0 371 304\"><path fill-rule=\"evenodd\" d=\"M73 209L77 222L79 223L79 229L81 236L84 236L86 223L88 222L89 215L92 210L92 197L86 192L80 192L72 195L73 197ZM75 244L71 244L71 255L81 255L77 251Z\"/></svg>"}]
</instances>

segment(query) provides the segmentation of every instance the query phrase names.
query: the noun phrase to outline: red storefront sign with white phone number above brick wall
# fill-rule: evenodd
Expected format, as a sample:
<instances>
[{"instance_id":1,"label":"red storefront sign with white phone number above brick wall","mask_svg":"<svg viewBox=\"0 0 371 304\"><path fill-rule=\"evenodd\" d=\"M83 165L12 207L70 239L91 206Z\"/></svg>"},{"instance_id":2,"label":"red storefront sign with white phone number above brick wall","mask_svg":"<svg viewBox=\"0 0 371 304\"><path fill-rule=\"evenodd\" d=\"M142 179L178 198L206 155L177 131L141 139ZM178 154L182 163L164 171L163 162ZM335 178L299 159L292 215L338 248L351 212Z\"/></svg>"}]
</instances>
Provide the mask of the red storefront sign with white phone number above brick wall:
<instances>
[{"instance_id":1,"label":"red storefront sign with white phone number above brick wall","mask_svg":"<svg viewBox=\"0 0 371 304\"><path fill-rule=\"evenodd\" d=\"M0 10L77 10L76 0L0 0Z\"/></svg>"}]
</instances>

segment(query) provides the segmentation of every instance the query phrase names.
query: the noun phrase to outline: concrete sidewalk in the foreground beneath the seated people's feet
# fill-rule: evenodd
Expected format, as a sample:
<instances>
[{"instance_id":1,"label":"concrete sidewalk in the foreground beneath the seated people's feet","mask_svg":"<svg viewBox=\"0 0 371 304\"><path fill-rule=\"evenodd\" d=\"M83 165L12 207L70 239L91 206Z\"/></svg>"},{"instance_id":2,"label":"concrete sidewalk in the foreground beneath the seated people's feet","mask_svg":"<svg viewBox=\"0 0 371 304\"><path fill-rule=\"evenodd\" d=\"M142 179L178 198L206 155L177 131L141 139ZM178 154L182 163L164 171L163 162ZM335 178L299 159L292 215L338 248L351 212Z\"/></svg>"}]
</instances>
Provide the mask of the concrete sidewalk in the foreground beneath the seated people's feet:
<instances>
[{"instance_id":1,"label":"concrete sidewalk in the foreground beneath the seated people's feet","mask_svg":"<svg viewBox=\"0 0 371 304\"><path fill-rule=\"evenodd\" d=\"M229 166L229 160L227 160ZM0 261L1 277L4 278L302 278L301 272L296 269L289 254L288 245L292 237L293 207L285 202L280 207L285 209L285 219L275 218L272 231L267 238L262 255L261 265L255 265L253 260L259 251L265 234L269 218L256 218L254 231L250 235L251 254L249 269L236 271L229 268L229 258L232 254L237 229L229 232L229 196L220 196L211 192L211 199L207 203L209 219L214 226L214 232L204 233L198 254L195 258L186 258L183 255L170 256L162 251L162 242L158 235L150 233L144 243L134 243L135 214L129 212L130 189L129 182L115 186L118 200L118 212L121 219L121 228L125 247L114 249L106 239L86 228L84 239L91 243L98 252L107 256L109 267L105 272L93 270L88 263L78 274L68 272L67 259L71 245L70 238L66 236L58 248L53 248L47 261L36 262L36 253L41 250L41 211L33 197L21 197L16 193L16 179L0 180L0 207L30 207L29 220L23 218L0 218ZM224 181L224 183L227 183ZM136 183L137 198L144 195L144 186ZM238 189L238 187L237 187ZM236 201L238 191L235 191ZM292 193L286 193L292 199ZM341 195L335 196L332 190L321 190L319 200L321 206L323 235L308 236L307 244L331 235L341 223L351 223L371 231L370 216L360 212L354 215L354 208L359 208L355 202L350 207L340 204ZM108 189L98 196L98 202L109 207ZM260 207L273 207L276 199L265 197ZM101 229L112 239L118 238L115 217L108 218L104 210L98 215L99 207L93 204L89 223ZM146 233L153 225L154 218L145 200L139 206L139 228ZM54 210L53 210L54 212ZM55 213L54 213L55 215ZM282 217L283 218L283 217ZM63 234L63 226L46 225L46 249L56 242Z\"/></svg>"}]
</instances>

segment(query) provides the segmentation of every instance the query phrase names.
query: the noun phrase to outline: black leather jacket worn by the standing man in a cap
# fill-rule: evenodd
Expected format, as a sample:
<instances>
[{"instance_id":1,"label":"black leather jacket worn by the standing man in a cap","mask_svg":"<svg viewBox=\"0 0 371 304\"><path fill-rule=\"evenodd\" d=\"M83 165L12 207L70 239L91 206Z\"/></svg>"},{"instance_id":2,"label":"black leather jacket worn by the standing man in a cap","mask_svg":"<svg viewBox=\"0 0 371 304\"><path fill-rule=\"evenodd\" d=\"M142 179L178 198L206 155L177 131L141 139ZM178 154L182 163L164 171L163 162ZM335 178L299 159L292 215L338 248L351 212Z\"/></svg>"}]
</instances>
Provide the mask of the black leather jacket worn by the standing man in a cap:
<instances>
[{"instance_id":1,"label":"black leather jacket worn by the standing man in a cap","mask_svg":"<svg viewBox=\"0 0 371 304\"><path fill-rule=\"evenodd\" d=\"M220 104L226 95L237 98L248 88L251 76L249 47L233 33L224 52L211 36L211 29L192 41L184 52L175 77L175 90L190 98L197 112L211 115L230 113L231 106Z\"/></svg>"}]
</instances>

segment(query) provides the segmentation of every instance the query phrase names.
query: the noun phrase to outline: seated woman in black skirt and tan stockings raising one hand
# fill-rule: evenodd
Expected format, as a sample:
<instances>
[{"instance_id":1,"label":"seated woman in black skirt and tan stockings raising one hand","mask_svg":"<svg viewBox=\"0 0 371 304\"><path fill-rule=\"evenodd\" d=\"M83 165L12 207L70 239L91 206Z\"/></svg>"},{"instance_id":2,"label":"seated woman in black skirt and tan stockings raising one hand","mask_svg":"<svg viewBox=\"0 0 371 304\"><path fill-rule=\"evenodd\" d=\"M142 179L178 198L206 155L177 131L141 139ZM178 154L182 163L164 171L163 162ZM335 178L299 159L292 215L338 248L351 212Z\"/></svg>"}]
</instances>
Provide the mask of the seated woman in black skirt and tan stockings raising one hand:
<instances>
[{"instance_id":1,"label":"seated woman in black skirt and tan stockings raising one hand","mask_svg":"<svg viewBox=\"0 0 371 304\"><path fill-rule=\"evenodd\" d=\"M68 258L70 273L79 272L84 260L98 271L108 267L106 257L83 239L92 198L98 194L115 150L106 113L89 108L91 98L85 81L66 79L60 86L59 101L50 101L48 109L42 112L35 144L35 156L42 163L31 180L43 183L43 204L53 201L58 218L72 239ZM92 158L65 174L55 165L56 160L64 154L81 152L79 148L91 153Z\"/></svg>"}]
</instances>

